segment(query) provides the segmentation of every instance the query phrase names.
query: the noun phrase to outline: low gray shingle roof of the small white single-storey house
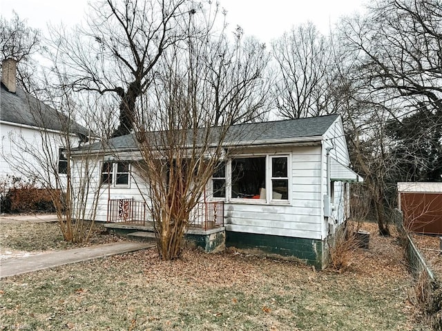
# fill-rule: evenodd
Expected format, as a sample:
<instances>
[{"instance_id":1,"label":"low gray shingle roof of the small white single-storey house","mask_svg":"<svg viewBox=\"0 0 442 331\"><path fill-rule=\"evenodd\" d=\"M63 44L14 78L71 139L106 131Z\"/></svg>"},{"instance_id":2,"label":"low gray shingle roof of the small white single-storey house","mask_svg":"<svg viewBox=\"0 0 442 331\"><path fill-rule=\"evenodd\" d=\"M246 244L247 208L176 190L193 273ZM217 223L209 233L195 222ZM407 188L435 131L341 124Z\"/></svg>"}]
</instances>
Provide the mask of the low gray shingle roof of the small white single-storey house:
<instances>
[{"instance_id":1,"label":"low gray shingle roof of the small white single-storey house","mask_svg":"<svg viewBox=\"0 0 442 331\"><path fill-rule=\"evenodd\" d=\"M305 119L238 124L229 128L224 139L224 145L248 146L263 143L285 143L294 142L296 140L299 141L300 139L309 140L309 137L311 140L314 140L314 137L323 136L339 116L339 114L332 114L321 117L308 117ZM200 129L199 134L203 137L204 129ZM160 140L157 137L161 136L160 132L147 132L146 135L151 144L154 144L153 141L155 141L155 139ZM219 139L217 139L218 130L216 130L216 128L211 128L210 137L209 140L214 143L219 141ZM201 142L203 140L199 139L199 141ZM189 141L188 144L191 145L191 141ZM135 134L115 137L110 139L105 146L106 148L103 147L102 143L95 143L92 149L136 150L137 143Z\"/></svg>"}]
</instances>

